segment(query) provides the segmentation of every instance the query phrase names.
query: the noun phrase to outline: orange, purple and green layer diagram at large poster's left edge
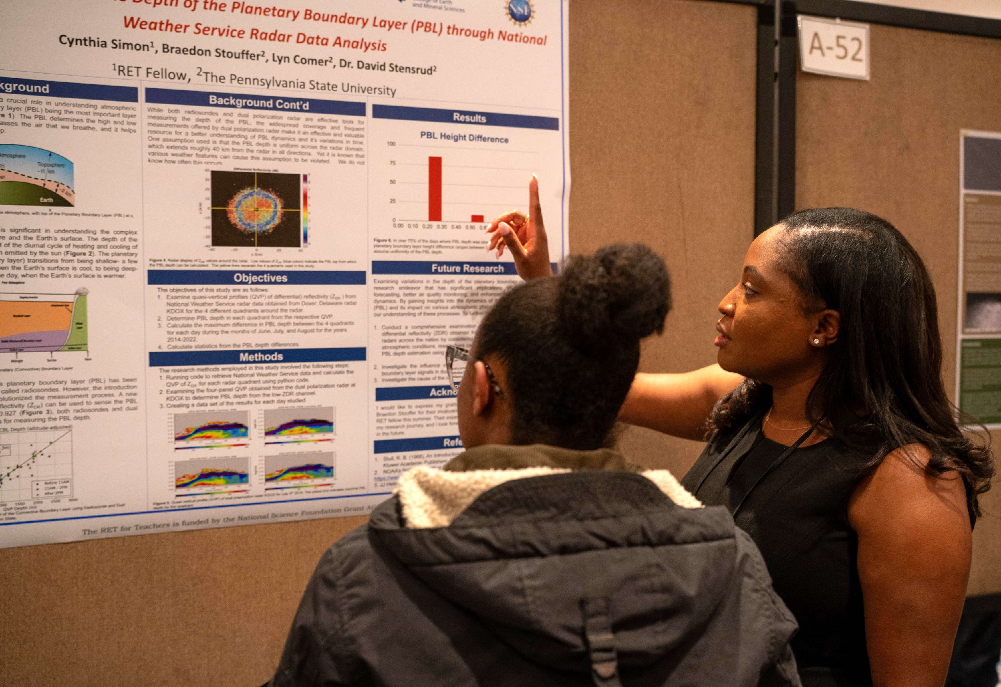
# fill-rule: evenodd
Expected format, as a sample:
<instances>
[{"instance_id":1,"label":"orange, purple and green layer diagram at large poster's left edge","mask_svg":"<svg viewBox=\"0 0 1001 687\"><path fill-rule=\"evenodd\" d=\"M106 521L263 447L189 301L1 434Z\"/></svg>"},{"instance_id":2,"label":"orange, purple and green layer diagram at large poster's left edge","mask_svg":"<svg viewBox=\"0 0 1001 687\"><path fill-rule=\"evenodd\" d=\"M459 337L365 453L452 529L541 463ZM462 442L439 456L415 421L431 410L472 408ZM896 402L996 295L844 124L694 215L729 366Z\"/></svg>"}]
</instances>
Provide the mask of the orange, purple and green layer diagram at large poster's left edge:
<instances>
[{"instance_id":1,"label":"orange, purple and green layer diagram at large poster's left edge","mask_svg":"<svg viewBox=\"0 0 1001 687\"><path fill-rule=\"evenodd\" d=\"M0 293L0 353L87 351L87 289Z\"/></svg>"}]
</instances>

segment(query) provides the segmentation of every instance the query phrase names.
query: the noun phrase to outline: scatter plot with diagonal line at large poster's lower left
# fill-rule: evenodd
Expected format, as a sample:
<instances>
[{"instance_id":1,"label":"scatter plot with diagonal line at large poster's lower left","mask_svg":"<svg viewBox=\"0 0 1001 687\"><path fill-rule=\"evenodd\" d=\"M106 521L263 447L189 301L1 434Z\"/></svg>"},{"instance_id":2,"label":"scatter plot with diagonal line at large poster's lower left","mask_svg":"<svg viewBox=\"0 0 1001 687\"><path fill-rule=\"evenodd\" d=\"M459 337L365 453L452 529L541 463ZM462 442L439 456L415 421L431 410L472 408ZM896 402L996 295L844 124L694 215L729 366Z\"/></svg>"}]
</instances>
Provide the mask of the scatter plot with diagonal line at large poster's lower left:
<instances>
[{"instance_id":1,"label":"scatter plot with diagonal line at large poster's lower left","mask_svg":"<svg viewBox=\"0 0 1001 687\"><path fill-rule=\"evenodd\" d=\"M0 502L72 495L71 430L0 434Z\"/></svg>"}]
</instances>

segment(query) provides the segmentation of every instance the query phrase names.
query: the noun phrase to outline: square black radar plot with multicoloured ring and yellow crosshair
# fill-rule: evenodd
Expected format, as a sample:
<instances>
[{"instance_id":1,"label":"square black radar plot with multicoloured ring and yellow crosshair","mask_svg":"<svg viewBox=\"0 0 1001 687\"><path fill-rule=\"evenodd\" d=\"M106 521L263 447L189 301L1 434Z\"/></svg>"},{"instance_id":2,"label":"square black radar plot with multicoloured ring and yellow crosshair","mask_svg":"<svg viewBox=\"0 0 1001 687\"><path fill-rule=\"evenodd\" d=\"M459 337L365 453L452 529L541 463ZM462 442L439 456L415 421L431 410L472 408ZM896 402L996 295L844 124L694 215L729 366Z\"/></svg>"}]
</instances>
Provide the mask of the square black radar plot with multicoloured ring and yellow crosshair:
<instances>
[{"instance_id":1,"label":"square black radar plot with multicoloured ring and yellow crosshair","mask_svg":"<svg viewBox=\"0 0 1001 687\"><path fill-rule=\"evenodd\" d=\"M306 176L213 170L213 246L298 248L304 243Z\"/></svg>"}]
</instances>

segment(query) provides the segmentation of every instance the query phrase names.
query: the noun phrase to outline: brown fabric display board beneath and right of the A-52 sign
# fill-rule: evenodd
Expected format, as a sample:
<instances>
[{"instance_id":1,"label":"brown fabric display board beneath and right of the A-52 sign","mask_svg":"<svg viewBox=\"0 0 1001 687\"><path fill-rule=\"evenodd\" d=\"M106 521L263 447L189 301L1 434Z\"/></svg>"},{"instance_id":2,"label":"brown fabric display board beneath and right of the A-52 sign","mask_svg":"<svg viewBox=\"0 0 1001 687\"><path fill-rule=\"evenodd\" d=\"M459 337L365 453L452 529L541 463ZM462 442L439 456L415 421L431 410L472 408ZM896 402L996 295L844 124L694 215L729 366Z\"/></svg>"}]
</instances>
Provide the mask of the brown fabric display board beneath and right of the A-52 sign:
<instances>
[{"instance_id":1,"label":"brown fabric display board beneath and right of the A-52 sign","mask_svg":"<svg viewBox=\"0 0 1001 687\"><path fill-rule=\"evenodd\" d=\"M1001 131L1001 40L873 25L872 80L800 73L796 206L847 205L899 228L938 295L955 386L959 132ZM987 67L991 65L991 67ZM1001 433L993 433L995 447ZM1001 592L1001 489L981 502L969 593Z\"/></svg>"}]
</instances>

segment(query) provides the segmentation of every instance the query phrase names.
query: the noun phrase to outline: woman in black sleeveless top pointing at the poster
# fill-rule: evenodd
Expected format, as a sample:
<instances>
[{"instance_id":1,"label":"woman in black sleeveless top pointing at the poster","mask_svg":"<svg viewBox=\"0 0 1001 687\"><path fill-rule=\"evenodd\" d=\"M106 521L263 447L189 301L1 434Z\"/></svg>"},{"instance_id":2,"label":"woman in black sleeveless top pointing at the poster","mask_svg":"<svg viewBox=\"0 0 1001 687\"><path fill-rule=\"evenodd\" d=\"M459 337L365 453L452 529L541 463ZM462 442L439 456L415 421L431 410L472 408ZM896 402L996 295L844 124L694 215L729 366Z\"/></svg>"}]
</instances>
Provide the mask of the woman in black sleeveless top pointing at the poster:
<instances>
[{"instance_id":1,"label":"woman in black sleeveless top pointing at the poster","mask_svg":"<svg viewBox=\"0 0 1001 687\"><path fill-rule=\"evenodd\" d=\"M535 178L530 197L487 229L526 279L551 273ZM621 419L708 441L683 484L755 539L804 685L940 687L994 469L946 397L921 257L875 215L804 210L719 311L718 365L637 375Z\"/></svg>"}]
</instances>

